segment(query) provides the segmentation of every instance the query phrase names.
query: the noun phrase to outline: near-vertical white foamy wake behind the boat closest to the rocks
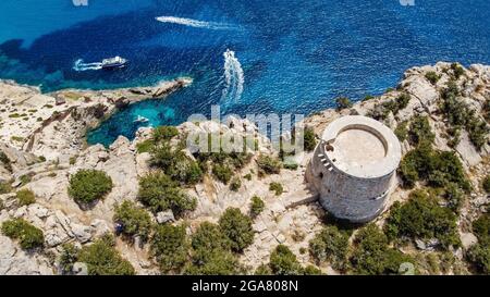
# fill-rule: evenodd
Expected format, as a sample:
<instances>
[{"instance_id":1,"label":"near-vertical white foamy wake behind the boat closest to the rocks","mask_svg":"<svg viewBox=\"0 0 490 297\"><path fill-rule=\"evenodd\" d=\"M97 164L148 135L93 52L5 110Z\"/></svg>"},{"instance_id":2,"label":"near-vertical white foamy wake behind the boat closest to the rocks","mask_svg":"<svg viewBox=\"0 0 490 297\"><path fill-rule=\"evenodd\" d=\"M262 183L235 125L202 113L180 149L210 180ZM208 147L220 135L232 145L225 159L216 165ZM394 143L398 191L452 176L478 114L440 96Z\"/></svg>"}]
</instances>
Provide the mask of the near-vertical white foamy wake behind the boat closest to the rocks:
<instances>
[{"instance_id":1,"label":"near-vertical white foamy wake behind the boat closest to the rocks","mask_svg":"<svg viewBox=\"0 0 490 297\"><path fill-rule=\"evenodd\" d=\"M226 50L224 53L224 89L221 97L221 101L238 102L242 98L243 86L245 83L245 75L242 69L242 64L235 57L235 52Z\"/></svg>"}]
</instances>

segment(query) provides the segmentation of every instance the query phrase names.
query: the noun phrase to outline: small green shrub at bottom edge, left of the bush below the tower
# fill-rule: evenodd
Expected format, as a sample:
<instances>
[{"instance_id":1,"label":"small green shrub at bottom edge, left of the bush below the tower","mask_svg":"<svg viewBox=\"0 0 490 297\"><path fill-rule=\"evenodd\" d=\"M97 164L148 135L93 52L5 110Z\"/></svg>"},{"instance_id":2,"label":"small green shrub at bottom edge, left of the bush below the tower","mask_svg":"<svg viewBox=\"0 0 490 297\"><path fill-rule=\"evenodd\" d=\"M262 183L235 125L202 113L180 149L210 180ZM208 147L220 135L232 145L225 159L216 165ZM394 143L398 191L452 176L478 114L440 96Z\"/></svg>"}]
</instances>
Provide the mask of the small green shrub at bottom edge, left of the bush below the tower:
<instances>
[{"instance_id":1,"label":"small green shrub at bottom edge, left of the bush below the tower","mask_svg":"<svg viewBox=\"0 0 490 297\"><path fill-rule=\"evenodd\" d=\"M303 268L296 256L284 245L279 245L270 255L269 267L275 275L301 275Z\"/></svg>"}]
</instances>

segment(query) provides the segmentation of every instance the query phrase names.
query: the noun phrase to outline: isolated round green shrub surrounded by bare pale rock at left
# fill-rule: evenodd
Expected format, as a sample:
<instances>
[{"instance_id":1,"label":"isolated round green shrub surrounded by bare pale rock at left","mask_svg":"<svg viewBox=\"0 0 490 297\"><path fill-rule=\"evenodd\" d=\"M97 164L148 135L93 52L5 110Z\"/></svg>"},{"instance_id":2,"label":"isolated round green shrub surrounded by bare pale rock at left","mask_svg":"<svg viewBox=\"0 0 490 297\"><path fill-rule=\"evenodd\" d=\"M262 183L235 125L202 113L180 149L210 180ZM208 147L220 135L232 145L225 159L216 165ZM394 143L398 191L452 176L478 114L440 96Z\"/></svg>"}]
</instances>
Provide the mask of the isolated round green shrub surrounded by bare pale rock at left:
<instances>
[{"instance_id":1,"label":"isolated round green shrub surrounded by bare pale rock at left","mask_svg":"<svg viewBox=\"0 0 490 297\"><path fill-rule=\"evenodd\" d=\"M103 171L81 170L70 177L69 195L78 203L102 199L112 189L112 180Z\"/></svg>"}]
</instances>

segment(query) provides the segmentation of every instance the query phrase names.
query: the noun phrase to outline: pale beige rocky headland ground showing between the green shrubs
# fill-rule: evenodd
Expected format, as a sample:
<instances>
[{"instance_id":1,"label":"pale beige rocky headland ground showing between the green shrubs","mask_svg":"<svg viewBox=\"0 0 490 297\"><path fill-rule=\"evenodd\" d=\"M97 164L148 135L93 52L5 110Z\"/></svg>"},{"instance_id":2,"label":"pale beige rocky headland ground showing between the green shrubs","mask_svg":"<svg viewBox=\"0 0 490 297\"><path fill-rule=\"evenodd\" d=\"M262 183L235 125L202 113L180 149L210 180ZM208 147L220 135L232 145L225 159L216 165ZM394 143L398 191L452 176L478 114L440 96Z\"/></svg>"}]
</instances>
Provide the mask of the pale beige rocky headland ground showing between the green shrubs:
<instances>
[{"instance_id":1,"label":"pale beige rocky headland ground showing between the green shrubs","mask_svg":"<svg viewBox=\"0 0 490 297\"><path fill-rule=\"evenodd\" d=\"M488 129L483 129L483 135L476 135L481 134L481 129L476 132L469 126L462 126L457 135L453 133L452 120L448 117L441 98L450 82L458 87L458 98L471 111L475 121L488 123L490 66L463 69L442 62L406 71L399 86L382 96L318 112L305 120L305 126L318 136L333 120L347 114L362 114L383 122L399 135L403 132L403 125L414 116L427 116L434 136L433 147L457 156L471 184L457 212L456 228L462 245L444 252L431 249L430 240L421 239L396 247L404 255L418 259L418 271L422 274L434 273L428 268L428 255L433 253L442 259L448 252L452 256L452 262L440 273L471 272L465 260L465 252L478 242L471 222L487 212L489 203L489 196L481 186L490 174ZM0 223L21 218L44 232L42 248L36 250L22 249L15 240L0 235L0 274L58 274L64 244L71 243L82 248L107 233L114 233L114 208L125 200L139 203L140 178L158 170L151 165L151 152L142 149L142 144L151 141L154 132L142 128L134 140L119 137L109 148L101 145L87 147L84 136L88 128L98 125L121 106L162 98L189 83L188 79L175 79L150 88L41 94L37 88L0 82L0 151L4 156L0 162L0 182L9 188L0 195ZM402 95L408 95L408 99L403 106L393 108L390 102L396 102ZM252 159L233 172L240 181L238 186L231 187L205 172L197 183L183 187L186 194L196 198L193 211L179 216L171 211L154 212L152 223L185 223L186 233L192 234L203 222L218 223L220 215L229 208L248 213L253 197L260 197L265 202L264 211L253 220L254 239L235 255L249 273L267 263L278 245L287 246L302 265L318 265L327 274L345 273L329 261L319 263L308 252L310 240L328 221L324 210L316 202L317 194L307 182L311 152L294 157L295 166L259 174L260 156L278 156L269 148L268 139L258 135L254 123L244 120L235 120L230 125L184 123L177 131L179 135L195 132L232 132L237 136L254 134L258 150L250 151ZM416 148L407 137L400 138L404 154ZM176 147L177 141L172 145ZM191 159L196 158L188 152L186 154ZM79 170L102 171L113 184L112 190L88 209L75 202L68 191L71 176ZM385 213L376 220L376 225L382 227L385 224L391 205L407 201L412 190L403 187L402 183L400 178ZM282 190L272 190L272 184L281 185ZM421 186L421 183L415 185ZM15 194L21 189L32 190L35 202L21 206ZM137 236L133 239L117 237L115 249L136 273L160 273L161 267L159 269L150 245Z\"/></svg>"}]
</instances>

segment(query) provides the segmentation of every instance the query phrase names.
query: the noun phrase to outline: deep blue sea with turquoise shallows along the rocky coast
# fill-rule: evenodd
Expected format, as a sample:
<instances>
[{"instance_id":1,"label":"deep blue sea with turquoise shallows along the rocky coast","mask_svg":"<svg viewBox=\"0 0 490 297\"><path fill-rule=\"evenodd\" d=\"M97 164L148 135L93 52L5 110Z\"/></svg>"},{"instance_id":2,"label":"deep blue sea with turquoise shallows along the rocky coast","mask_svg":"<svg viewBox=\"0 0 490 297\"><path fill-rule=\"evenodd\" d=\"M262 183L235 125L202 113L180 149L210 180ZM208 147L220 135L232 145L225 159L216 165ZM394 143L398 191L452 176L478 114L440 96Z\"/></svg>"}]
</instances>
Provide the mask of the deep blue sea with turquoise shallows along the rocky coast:
<instances>
[{"instance_id":1,"label":"deep blue sea with turquoise shallows along the rocky coast","mask_svg":"<svg viewBox=\"0 0 490 297\"><path fill-rule=\"evenodd\" d=\"M194 78L166 100L117 113L89 133L90 144L132 138L142 125L176 125L215 103L241 115L309 114L339 96L382 94L414 65L490 63L488 0L87 2L1 0L0 77L44 91ZM226 50L234 55L224 58ZM79 59L114 55L128 66L73 70ZM134 122L138 115L149 122Z\"/></svg>"}]
</instances>

